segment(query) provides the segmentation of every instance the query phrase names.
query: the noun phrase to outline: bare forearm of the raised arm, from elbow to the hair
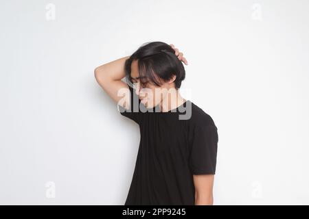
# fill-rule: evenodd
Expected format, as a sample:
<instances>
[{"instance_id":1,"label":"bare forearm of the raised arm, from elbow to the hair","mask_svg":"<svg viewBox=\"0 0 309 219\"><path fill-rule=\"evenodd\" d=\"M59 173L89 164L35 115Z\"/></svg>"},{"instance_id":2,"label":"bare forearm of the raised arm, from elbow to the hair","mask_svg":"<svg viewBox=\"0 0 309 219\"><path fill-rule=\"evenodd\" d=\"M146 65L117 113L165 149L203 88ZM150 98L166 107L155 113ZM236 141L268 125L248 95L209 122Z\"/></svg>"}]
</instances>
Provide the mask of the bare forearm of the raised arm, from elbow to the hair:
<instances>
[{"instance_id":1,"label":"bare forearm of the raised arm, from elbow to the hair","mask_svg":"<svg viewBox=\"0 0 309 219\"><path fill-rule=\"evenodd\" d=\"M97 81L119 81L124 78L124 63L130 56L122 57L112 62L102 64L95 68L95 78Z\"/></svg>"}]
</instances>

